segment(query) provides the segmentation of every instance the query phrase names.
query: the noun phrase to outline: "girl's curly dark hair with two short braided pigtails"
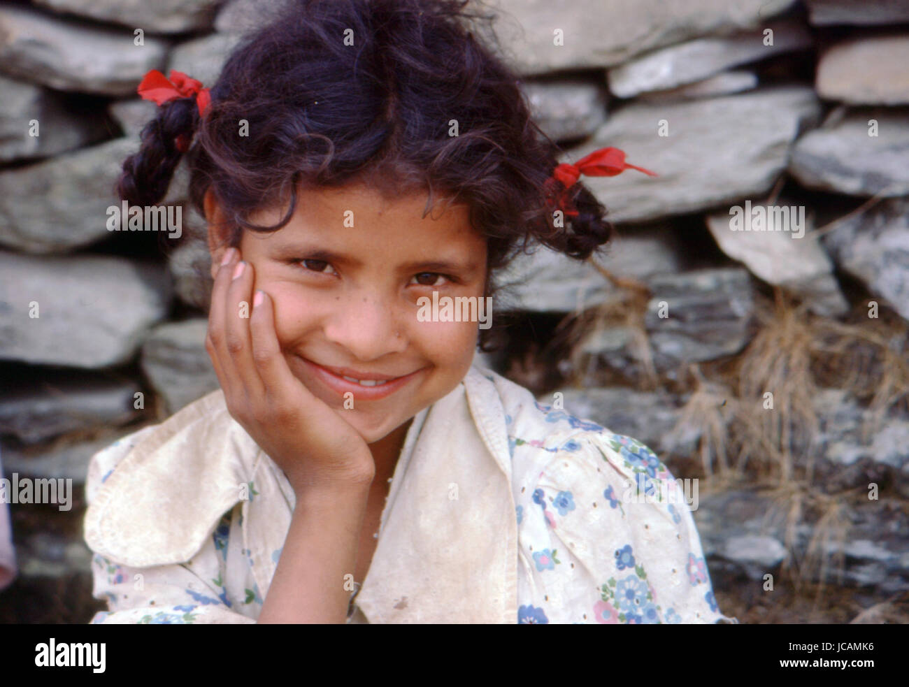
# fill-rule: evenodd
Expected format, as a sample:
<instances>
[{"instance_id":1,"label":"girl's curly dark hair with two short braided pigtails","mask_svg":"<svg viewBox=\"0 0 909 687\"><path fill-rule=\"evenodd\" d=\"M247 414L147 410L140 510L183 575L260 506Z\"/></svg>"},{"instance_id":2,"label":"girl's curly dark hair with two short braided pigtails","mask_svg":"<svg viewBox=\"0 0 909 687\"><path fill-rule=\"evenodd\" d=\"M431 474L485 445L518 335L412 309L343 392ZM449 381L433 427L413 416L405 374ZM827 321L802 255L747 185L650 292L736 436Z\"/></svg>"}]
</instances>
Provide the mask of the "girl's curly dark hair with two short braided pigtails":
<instances>
[{"instance_id":1,"label":"girl's curly dark hair with two short braided pigtails","mask_svg":"<svg viewBox=\"0 0 909 687\"><path fill-rule=\"evenodd\" d=\"M185 153L189 199L204 215L212 189L229 218L231 245L243 229L284 226L298 187L366 184L385 197L428 191L424 216L435 194L466 204L487 239L485 295L498 294L494 274L534 241L586 259L613 235L605 208L574 184L569 199L578 214L565 216L564 226L555 222L545 189L562 151L531 119L518 76L476 37L471 23L495 15L473 5L285 0L235 45L205 117L195 96L158 108L140 150L125 160L117 194L130 204L159 203L184 155L177 136L195 133ZM348 29L353 48L345 45ZM241 119L248 136L237 135ZM458 135L449 135L451 120ZM288 194L281 222L248 223ZM481 351L496 350L497 331L480 331Z\"/></svg>"}]
</instances>

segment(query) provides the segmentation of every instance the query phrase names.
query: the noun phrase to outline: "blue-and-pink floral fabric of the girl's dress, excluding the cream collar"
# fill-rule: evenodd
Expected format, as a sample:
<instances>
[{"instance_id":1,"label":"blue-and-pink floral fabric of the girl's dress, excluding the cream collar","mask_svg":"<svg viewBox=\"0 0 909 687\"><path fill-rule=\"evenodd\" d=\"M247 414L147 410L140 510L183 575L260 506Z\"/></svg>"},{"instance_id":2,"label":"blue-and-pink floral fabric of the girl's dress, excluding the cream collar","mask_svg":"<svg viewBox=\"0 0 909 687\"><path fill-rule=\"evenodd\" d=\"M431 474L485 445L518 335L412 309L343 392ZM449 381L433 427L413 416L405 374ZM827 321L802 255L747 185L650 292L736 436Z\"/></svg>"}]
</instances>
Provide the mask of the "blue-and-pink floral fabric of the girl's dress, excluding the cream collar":
<instances>
[{"instance_id":1,"label":"blue-and-pink floral fabric of the girl's dress, excluding the cream collar","mask_svg":"<svg viewBox=\"0 0 909 687\"><path fill-rule=\"evenodd\" d=\"M484 377L494 383L500 379L492 374ZM537 401L511 404L508 409L504 422L509 454L514 470L524 470L520 473L522 482L514 483L519 557L524 560L519 566L522 572L515 622L674 624L716 620L711 613L718 614L719 609L696 532L689 539L693 532L690 511L671 503L638 505L624 501L624 487L620 485L629 476L633 490L636 487L651 494L659 490L662 481L671 479L656 454L631 437ZM537 472L525 469L531 462L537 462ZM113 468L105 466L105 472L99 473L104 475L102 482L111 473ZM260 492L265 492L265 486L256 488L253 476L250 473L246 482L250 503L258 501ZM272 493L263 501L273 498ZM240 544L245 541L244 509L238 505L235 518L233 510L225 513L207 540L205 551L209 553L203 551L194 557L209 556L202 560L217 561L218 565L210 572L205 568L202 580L175 584L156 604L159 608L135 608L134 614L120 592L132 582L135 569L95 554L93 569L99 598L107 598L112 611L117 603L126 608L98 612L92 622L213 622L207 620L213 612L254 620L263 598L252 572L256 566L262 567L263 559L276 565L282 549L259 552L254 560L252 552ZM658 513L661 510L662 514ZM677 526L673 538L654 539L655 535L665 537L670 520ZM654 528L655 523L661 523L662 529L648 533L648 526ZM261 523L257 526L261 527ZM690 550L681 549L684 553L679 553L681 546ZM673 565L651 571L653 562L666 560L665 556L671 556ZM195 571L192 563L175 565L173 569L189 575ZM669 577L670 567L673 577ZM656 577L652 578L650 572ZM189 577L185 579L188 581ZM685 579L688 583L678 583ZM589 596L572 592L576 598L566 602L565 590L581 590L588 581ZM150 589L155 590L155 585ZM132 594L129 589L126 593ZM151 593L146 592L145 596ZM584 605L579 605L581 601Z\"/></svg>"}]
</instances>

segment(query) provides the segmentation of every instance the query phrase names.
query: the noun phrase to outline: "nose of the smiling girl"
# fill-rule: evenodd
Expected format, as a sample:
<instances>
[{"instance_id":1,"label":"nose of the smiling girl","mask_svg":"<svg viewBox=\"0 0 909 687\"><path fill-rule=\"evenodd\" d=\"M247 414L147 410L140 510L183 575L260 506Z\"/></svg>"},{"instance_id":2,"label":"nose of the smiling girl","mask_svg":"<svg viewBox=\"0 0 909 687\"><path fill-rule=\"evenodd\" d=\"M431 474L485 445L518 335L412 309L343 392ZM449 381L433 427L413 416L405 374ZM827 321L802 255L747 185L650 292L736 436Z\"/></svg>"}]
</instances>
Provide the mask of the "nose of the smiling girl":
<instances>
[{"instance_id":1,"label":"nose of the smiling girl","mask_svg":"<svg viewBox=\"0 0 909 687\"><path fill-rule=\"evenodd\" d=\"M359 361L377 360L407 348L403 304L374 292L342 296L325 323L325 338Z\"/></svg>"}]
</instances>

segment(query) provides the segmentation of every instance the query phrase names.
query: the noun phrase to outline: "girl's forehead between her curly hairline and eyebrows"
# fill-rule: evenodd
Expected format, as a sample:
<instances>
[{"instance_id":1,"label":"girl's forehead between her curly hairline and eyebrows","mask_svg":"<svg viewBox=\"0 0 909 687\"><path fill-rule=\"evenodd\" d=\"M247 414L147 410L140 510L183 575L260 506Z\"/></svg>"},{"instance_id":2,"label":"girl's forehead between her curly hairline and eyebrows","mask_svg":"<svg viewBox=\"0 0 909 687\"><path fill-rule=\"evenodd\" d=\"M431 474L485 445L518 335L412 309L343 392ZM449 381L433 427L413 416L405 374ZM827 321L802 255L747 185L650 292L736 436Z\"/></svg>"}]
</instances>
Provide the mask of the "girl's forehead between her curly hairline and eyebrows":
<instances>
[{"instance_id":1,"label":"girl's forehead between her curly hairline and eyebrows","mask_svg":"<svg viewBox=\"0 0 909 687\"><path fill-rule=\"evenodd\" d=\"M469 207L439 199L425 216L427 195L385 197L367 186L300 190L290 221L276 232L259 234L270 247L324 248L357 262L376 258L395 263L413 259L485 257L485 238L470 223ZM285 208L251 215L255 224L275 224Z\"/></svg>"}]
</instances>

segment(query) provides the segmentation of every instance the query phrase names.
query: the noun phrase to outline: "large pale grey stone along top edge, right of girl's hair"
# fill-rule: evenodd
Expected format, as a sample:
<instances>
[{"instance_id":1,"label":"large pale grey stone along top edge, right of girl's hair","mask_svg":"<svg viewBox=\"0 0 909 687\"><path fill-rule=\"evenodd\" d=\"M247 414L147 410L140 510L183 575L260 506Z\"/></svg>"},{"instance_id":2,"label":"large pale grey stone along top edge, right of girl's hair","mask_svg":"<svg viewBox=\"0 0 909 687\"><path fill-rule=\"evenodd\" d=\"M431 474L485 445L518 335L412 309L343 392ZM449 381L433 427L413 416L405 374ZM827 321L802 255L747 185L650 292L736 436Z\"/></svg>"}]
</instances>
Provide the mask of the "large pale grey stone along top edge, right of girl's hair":
<instances>
[{"instance_id":1,"label":"large pale grey stone along top edge, right of girl's hair","mask_svg":"<svg viewBox=\"0 0 909 687\"><path fill-rule=\"evenodd\" d=\"M619 65L664 45L754 28L794 0L499 0L502 52L523 74ZM556 45L561 30L563 44Z\"/></svg>"}]
</instances>

